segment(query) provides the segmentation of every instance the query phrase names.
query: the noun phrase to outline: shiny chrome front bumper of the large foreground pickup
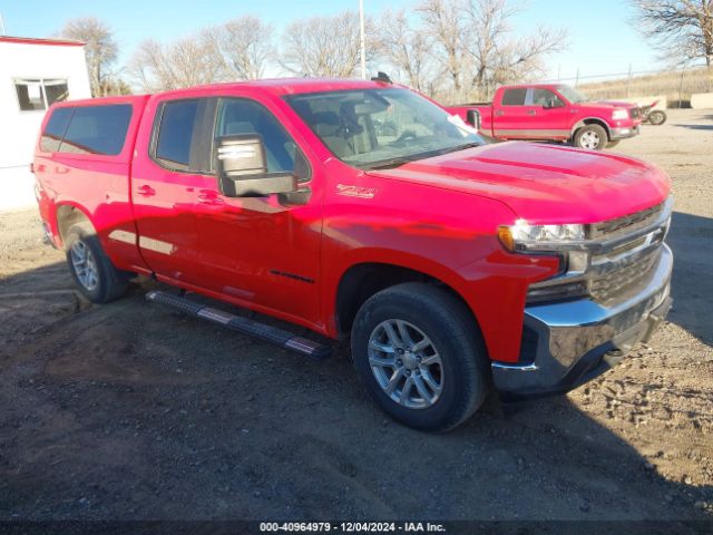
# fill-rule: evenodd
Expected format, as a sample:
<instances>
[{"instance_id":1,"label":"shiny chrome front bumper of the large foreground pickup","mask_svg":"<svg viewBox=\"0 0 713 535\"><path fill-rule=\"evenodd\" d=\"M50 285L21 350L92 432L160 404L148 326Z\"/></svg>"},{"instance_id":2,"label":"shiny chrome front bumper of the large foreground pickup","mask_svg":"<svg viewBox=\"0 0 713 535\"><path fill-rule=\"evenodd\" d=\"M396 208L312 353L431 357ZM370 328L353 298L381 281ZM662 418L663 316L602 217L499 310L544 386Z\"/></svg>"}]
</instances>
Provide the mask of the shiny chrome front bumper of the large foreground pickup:
<instances>
[{"instance_id":1,"label":"shiny chrome front bumper of the large foreground pickup","mask_svg":"<svg viewBox=\"0 0 713 535\"><path fill-rule=\"evenodd\" d=\"M673 254L663 244L651 282L635 296L607 308L589 299L525 309L525 325L537 334L527 364L492 363L492 380L505 395L556 393L595 378L637 342L647 341L671 309Z\"/></svg>"}]
</instances>

